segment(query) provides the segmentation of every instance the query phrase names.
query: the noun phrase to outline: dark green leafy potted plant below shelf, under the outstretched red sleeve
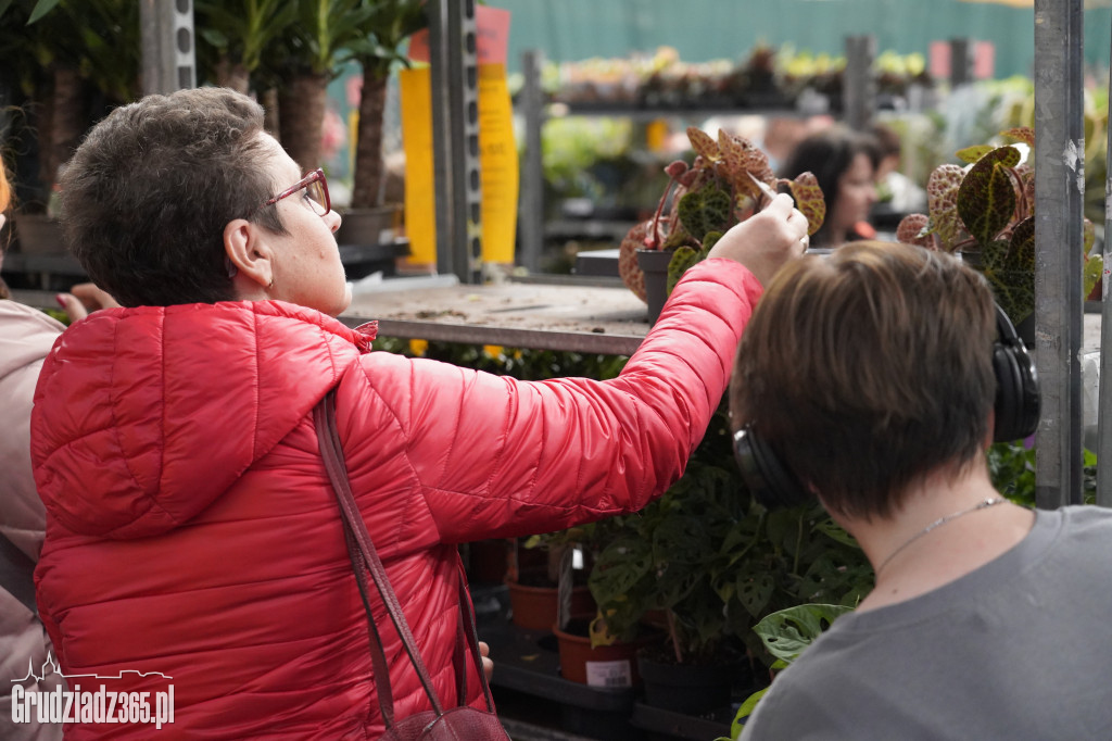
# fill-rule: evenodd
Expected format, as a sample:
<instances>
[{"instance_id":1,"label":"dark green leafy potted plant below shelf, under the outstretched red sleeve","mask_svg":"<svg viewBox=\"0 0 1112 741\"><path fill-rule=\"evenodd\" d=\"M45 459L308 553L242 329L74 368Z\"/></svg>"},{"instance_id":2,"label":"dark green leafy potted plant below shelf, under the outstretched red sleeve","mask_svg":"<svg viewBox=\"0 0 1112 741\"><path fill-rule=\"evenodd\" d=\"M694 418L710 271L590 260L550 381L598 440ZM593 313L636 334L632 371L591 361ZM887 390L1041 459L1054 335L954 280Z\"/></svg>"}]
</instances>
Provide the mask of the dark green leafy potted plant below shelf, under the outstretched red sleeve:
<instances>
[{"instance_id":1,"label":"dark green leafy potted plant below shelf, under the outstretched red sleeve","mask_svg":"<svg viewBox=\"0 0 1112 741\"><path fill-rule=\"evenodd\" d=\"M731 685L746 683L751 660L772 663L752 633L763 616L810 602L854 605L872 587L864 554L817 503L770 512L746 494L725 408L684 476L614 526L592 569L590 591L619 639L646 616L663 615L667 650L641 656L646 696L653 701L656 674L681 676L657 696L688 714L727 704ZM698 669L717 681L698 684L687 675ZM692 686L699 689L686 691ZM696 702L676 708L684 695Z\"/></svg>"}]
</instances>

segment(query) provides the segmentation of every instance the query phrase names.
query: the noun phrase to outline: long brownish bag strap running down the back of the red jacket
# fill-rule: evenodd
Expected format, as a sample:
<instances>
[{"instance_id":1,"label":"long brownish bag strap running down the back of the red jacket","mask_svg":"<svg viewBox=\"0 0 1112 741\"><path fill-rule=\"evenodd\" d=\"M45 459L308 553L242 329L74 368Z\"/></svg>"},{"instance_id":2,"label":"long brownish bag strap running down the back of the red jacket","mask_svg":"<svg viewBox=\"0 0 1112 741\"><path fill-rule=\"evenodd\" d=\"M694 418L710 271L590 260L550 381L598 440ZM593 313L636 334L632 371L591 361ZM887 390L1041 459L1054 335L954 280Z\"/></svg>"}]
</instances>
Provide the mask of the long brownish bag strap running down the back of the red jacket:
<instances>
[{"instance_id":1,"label":"long brownish bag strap running down the back of the red jacket","mask_svg":"<svg viewBox=\"0 0 1112 741\"><path fill-rule=\"evenodd\" d=\"M336 431L336 399L334 392L329 392L320 404L314 409L312 413L314 423L317 428L317 438L320 442L320 454L325 461L325 468L328 472L328 477L331 480L332 488L336 492L336 498L339 501L340 514L344 518L344 525L347 533L348 550L351 555L353 563L361 561L361 569L356 567L356 579L360 585L360 592L365 593L366 584L366 573L370 573L371 579L375 582L375 586L378 590L378 595L386 605L386 610L389 613L390 622L394 623L395 630L398 632L398 636L401 639L401 644L409 655L409 661L413 663L414 669L417 671L417 676L420 679L421 685L425 688L425 693L428 695L429 701L433 703L433 709L436 711L437 715L444 714L444 709L440 705L440 699L436 694L436 690L433 689L433 681L429 679L428 670L425 669L425 663L421 661L420 653L417 651L417 641L414 640L413 633L409 631L409 624L406 622L405 613L401 611L401 605L398 602L397 595L394 593L394 589L390 586L390 581L386 575L386 570L383 567L383 562L378 559L378 553L375 551L375 545L370 541L370 535L367 533L367 526L363 522L363 516L359 513L358 506L356 506L355 497L351 495L351 486L348 483L347 467L344 464L344 451L340 447L339 434ZM366 594L364 594L364 606L367 609L367 616L371 623L371 631L375 638L378 638L378 629L374 625L374 616L370 613L370 604L367 601ZM383 704L381 685L389 686L390 675L386 666L386 658L383 652L381 641L373 641L373 651L375 654L375 673L376 675L376 689L379 690L379 704ZM381 663L381 668L379 666ZM389 690L387 690L389 692ZM390 703L390 711L387 712L383 710L384 720L393 722L393 702Z\"/></svg>"}]
</instances>

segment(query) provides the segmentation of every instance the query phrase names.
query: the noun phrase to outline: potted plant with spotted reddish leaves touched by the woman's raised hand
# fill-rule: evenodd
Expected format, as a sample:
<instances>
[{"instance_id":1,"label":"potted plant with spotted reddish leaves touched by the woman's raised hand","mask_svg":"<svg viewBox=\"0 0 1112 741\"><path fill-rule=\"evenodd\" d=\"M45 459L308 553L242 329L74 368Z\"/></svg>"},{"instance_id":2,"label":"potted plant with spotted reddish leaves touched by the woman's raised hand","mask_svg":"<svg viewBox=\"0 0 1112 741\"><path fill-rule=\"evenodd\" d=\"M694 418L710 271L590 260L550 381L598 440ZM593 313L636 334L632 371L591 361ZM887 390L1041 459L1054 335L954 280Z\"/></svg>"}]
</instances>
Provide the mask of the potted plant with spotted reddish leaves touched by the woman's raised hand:
<instances>
[{"instance_id":1,"label":"potted plant with spotted reddish leaves touched by the woman's raised hand","mask_svg":"<svg viewBox=\"0 0 1112 741\"><path fill-rule=\"evenodd\" d=\"M665 168L669 180L656 213L629 229L618 253L622 279L648 304L651 323L684 270L704 259L731 227L761 208L765 197L754 179L773 189L786 185L807 217L808 234L826 216L822 190L811 172L794 180L776 178L763 151L724 129L715 140L689 127L687 138L695 161L688 166L676 160Z\"/></svg>"}]
</instances>

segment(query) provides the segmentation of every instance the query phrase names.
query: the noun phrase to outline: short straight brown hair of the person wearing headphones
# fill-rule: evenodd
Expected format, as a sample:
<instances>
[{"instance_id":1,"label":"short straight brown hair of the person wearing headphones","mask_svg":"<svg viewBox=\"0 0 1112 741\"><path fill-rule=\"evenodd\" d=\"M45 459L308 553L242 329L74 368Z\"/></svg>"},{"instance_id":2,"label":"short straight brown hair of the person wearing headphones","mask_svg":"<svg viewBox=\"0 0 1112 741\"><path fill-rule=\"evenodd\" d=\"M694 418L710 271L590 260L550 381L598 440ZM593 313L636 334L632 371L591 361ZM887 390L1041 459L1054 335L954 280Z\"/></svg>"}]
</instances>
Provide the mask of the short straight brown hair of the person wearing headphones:
<instances>
[{"instance_id":1,"label":"short straight brown hair of the person wearing headphones","mask_svg":"<svg viewBox=\"0 0 1112 741\"><path fill-rule=\"evenodd\" d=\"M994 339L987 285L951 255L861 241L804 257L745 328L732 425L832 511L884 517L924 475L954 475L982 451Z\"/></svg>"}]
</instances>

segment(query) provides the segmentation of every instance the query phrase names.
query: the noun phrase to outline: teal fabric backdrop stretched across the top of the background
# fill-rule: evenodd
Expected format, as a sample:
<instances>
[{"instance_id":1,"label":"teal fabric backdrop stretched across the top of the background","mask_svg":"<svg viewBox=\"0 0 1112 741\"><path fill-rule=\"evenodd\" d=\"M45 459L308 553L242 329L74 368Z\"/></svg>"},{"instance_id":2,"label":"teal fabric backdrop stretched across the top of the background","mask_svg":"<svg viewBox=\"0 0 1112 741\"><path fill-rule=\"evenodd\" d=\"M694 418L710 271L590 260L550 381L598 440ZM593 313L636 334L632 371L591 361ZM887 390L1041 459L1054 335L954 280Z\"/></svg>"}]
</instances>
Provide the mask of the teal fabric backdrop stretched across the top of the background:
<instances>
[{"instance_id":1,"label":"teal fabric backdrop stretched across the top of the background","mask_svg":"<svg viewBox=\"0 0 1112 741\"><path fill-rule=\"evenodd\" d=\"M932 40L992 41L996 77L1032 76L1034 11L960 0L488 0L509 10L509 68L526 49L554 61L624 57L666 45L684 61L737 59L758 41L841 55L844 38L927 53ZM1106 68L1112 9L1085 12L1084 58Z\"/></svg>"}]
</instances>

